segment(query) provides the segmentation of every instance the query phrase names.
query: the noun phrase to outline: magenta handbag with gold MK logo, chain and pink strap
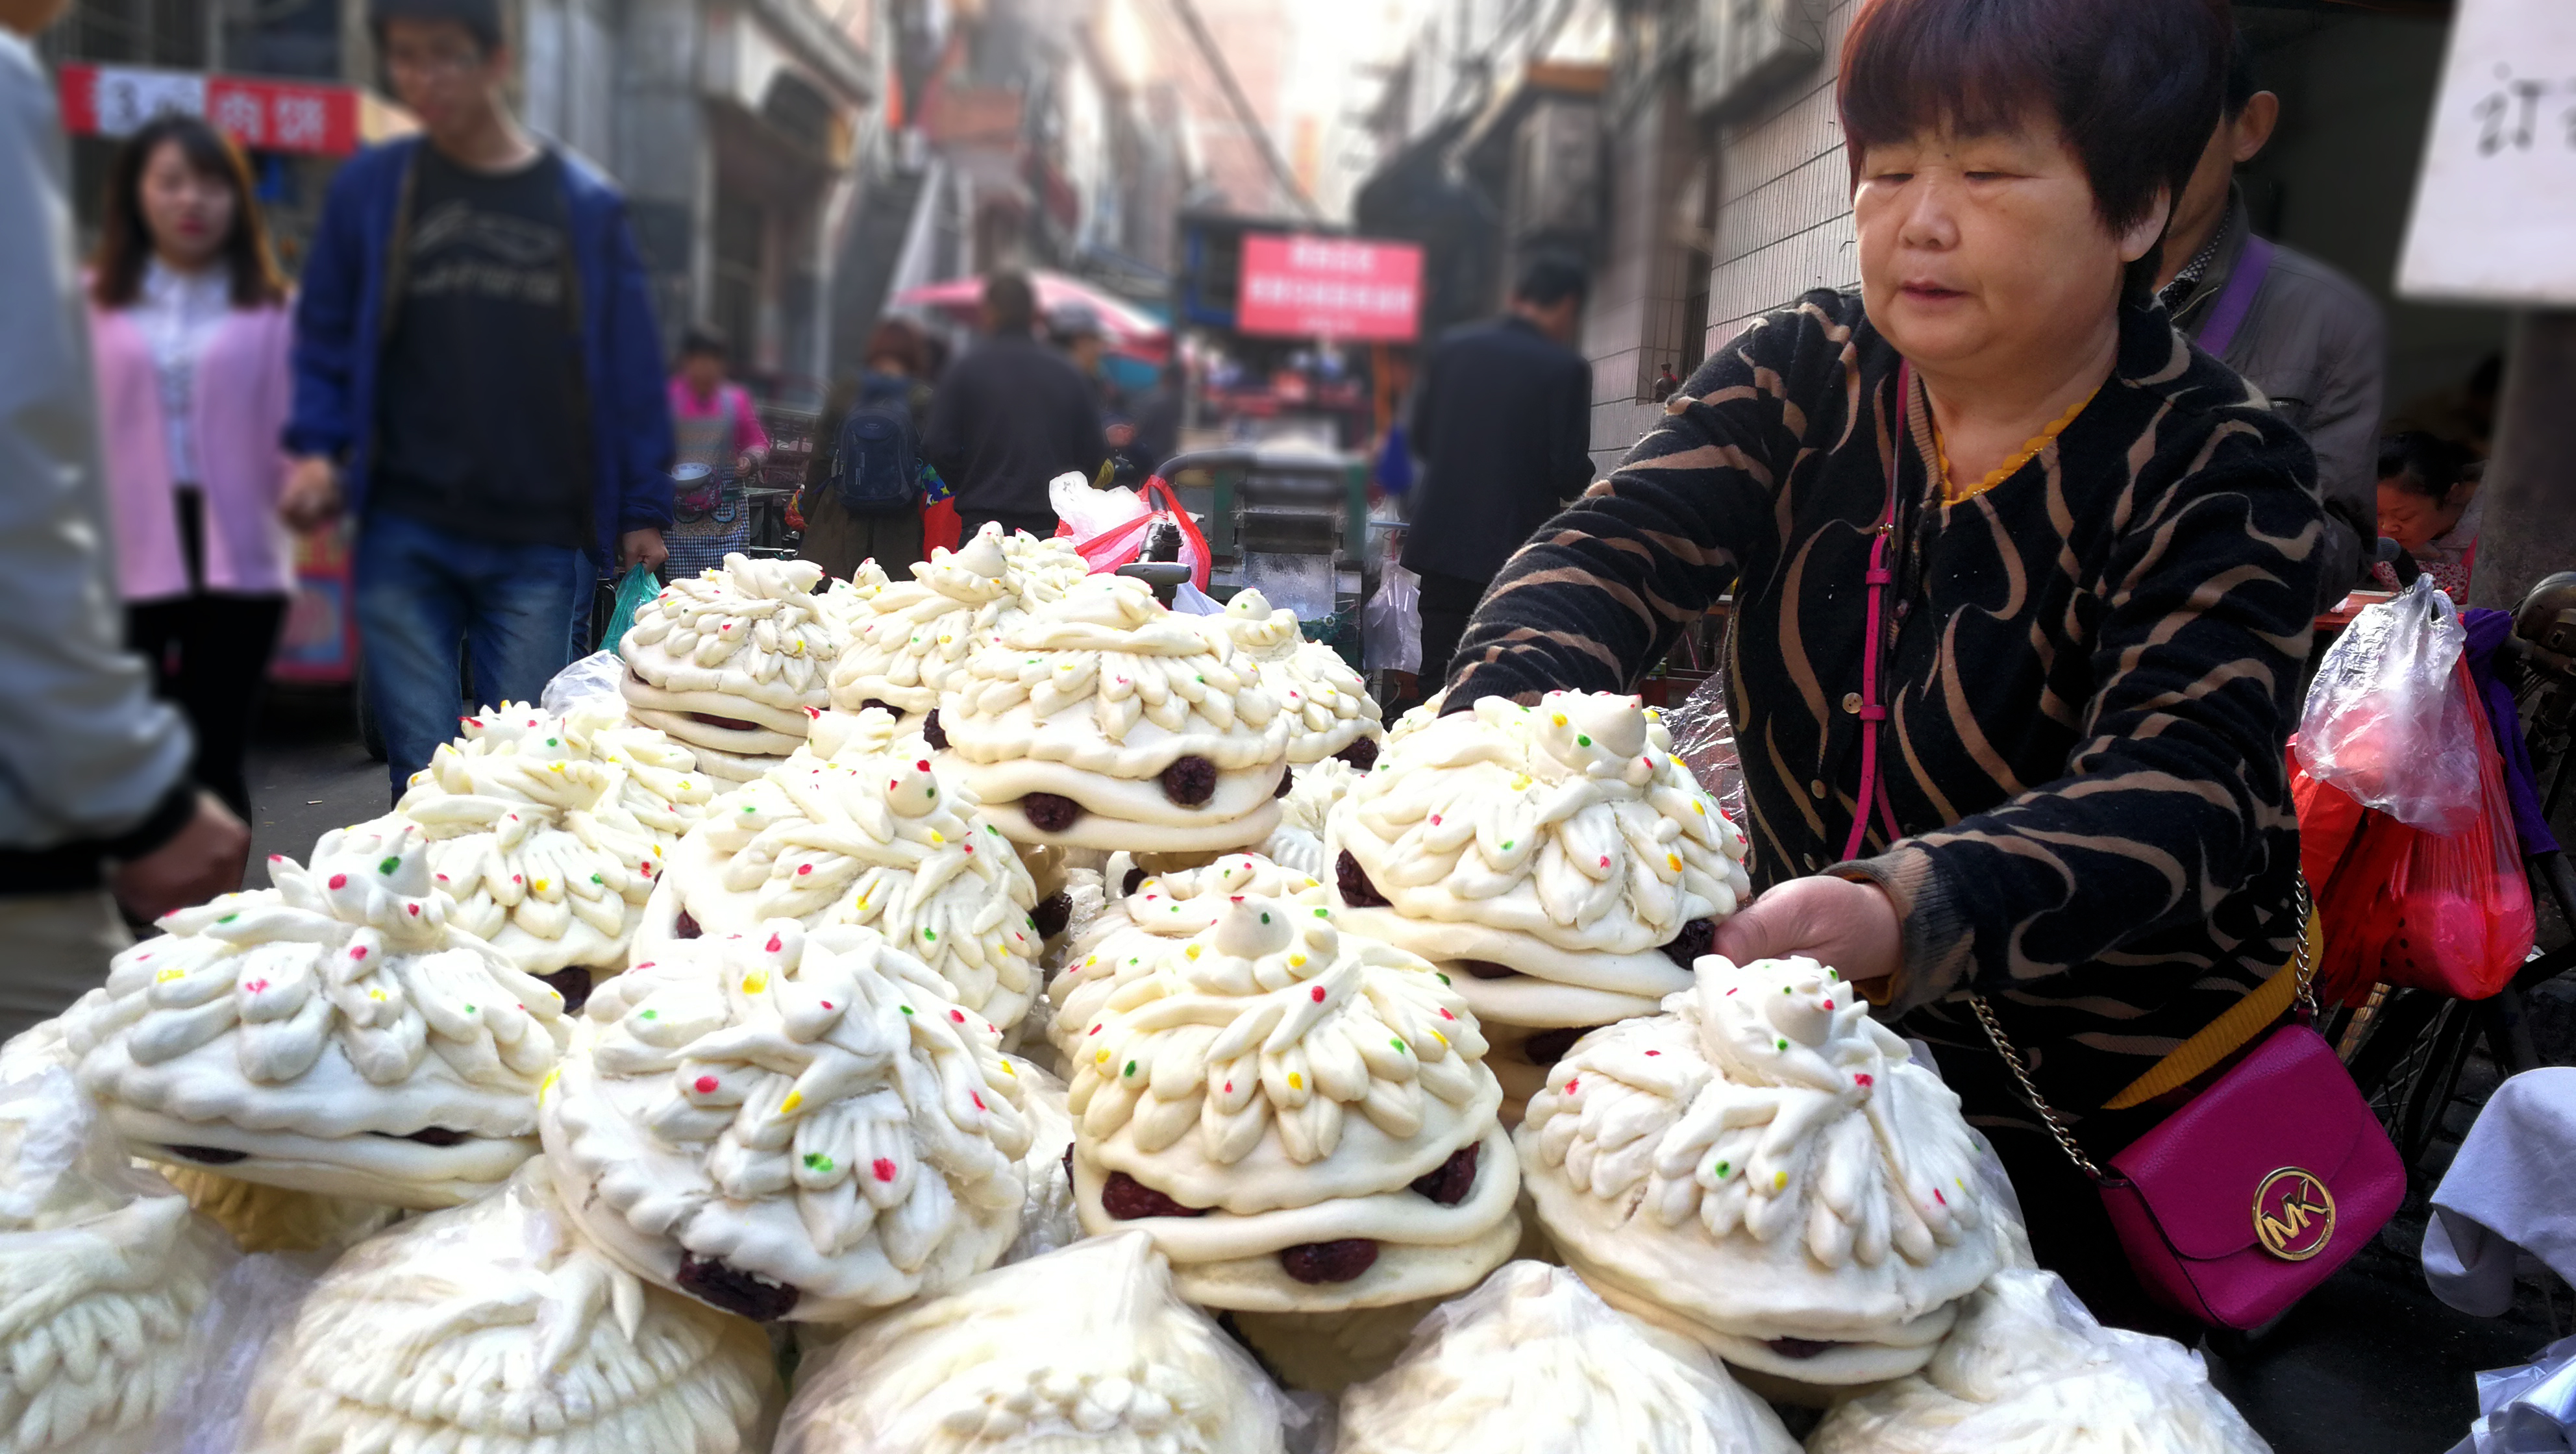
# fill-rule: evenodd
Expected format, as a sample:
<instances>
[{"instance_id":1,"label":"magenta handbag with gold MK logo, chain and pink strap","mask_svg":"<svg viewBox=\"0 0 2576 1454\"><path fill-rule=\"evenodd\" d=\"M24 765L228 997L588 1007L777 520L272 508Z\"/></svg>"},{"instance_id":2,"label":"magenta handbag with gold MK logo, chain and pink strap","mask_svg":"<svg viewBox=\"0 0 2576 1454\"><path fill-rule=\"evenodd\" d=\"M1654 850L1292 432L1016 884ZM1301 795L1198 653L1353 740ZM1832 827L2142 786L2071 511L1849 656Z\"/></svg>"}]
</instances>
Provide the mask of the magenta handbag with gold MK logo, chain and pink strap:
<instances>
[{"instance_id":1,"label":"magenta handbag with gold MK logo, chain and pink strap","mask_svg":"<svg viewBox=\"0 0 2576 1454\"><path fill-rule=\"evenodd\" d=\"M1878 695L1886 651L1880 612L1886 587L1893 584L1888 540L1896 533L1896 450L1911 430L1914 365L1899 365L1896 396L1904 404L1896 437L1888 440L1888 504L1870 543L1870 636L1860 656L1860 800L1844 860L1860 857L1873 800L1888 842L1901 836L1880 780L1878 726L1888 710ZM2311 1029L2316 1001L2308 975L2316 968L2318 926L2306 878L2298 880L2298 911L2303 932L2290 962L2105 1109L2179 1091L2246 1042L2254 1047L2156 1130L2112 1155L2107 1171L2084 1155L2069 1119L2040 1096L1986 996L1968 996L2022 1096L2102 1192L2120 1251L2146 1292L2218 1328L2259 1328L2287 1312L2352 1261L2406 1197L2406 1166L2344 1063ZM2300 1014L2267 1032L2293 1004Z\"/></svg>"}]
</instances>

